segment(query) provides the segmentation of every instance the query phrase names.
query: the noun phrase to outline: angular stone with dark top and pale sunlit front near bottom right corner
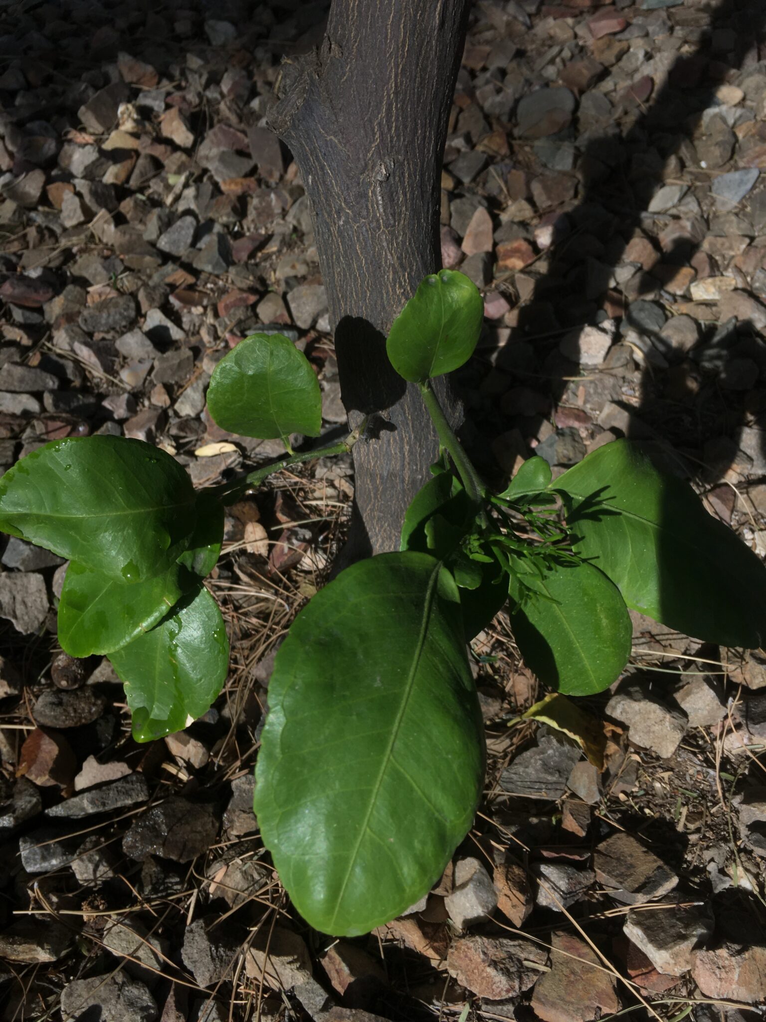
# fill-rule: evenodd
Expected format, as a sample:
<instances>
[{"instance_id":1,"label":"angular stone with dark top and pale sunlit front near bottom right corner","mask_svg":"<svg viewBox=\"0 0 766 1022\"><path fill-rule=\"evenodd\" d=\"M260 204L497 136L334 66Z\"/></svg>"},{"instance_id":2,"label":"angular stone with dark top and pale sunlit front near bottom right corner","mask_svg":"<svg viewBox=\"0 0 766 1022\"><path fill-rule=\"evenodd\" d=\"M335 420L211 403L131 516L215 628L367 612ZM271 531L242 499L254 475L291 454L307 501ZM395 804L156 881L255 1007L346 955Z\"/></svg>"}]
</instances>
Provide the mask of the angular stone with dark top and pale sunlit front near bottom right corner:
<instances>
[{"instance_id":1,"label":"angular stone with dark top and pale sunlit front near bottom right corner","mask_svg":"<svg viewBox=\"0 0 766 1022\"><path fill-rule=\"evenodd\" d=\"M713 920L699 905L629 912L623 932L658 972L682 976L691 951L713 933Z\"/></svg>"}]
</instances>

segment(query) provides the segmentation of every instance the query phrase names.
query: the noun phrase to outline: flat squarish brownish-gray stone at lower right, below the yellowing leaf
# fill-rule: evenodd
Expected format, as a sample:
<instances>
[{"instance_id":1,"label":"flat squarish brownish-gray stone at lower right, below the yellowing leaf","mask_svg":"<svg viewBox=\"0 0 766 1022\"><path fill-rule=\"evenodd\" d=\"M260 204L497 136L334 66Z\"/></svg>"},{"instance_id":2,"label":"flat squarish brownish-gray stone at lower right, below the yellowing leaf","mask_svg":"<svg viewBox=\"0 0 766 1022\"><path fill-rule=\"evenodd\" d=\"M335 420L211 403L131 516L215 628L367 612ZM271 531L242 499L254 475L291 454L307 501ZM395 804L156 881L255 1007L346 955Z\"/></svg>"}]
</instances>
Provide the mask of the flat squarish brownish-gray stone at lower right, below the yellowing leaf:
<instances>
[{"instance_id":1,"label":"flat squarish brownish-gray stone at lower right, below the yellowing leaf","mask_svg":"<svg viewBox=\"0 0 766 1022\"><path fill-rule=\"evenodd\" d=\"M663 897L678 883L669 867L626 833L602 841L593 852L593 869L596 880L624 904Z\"/></svg>"}]
</instances>

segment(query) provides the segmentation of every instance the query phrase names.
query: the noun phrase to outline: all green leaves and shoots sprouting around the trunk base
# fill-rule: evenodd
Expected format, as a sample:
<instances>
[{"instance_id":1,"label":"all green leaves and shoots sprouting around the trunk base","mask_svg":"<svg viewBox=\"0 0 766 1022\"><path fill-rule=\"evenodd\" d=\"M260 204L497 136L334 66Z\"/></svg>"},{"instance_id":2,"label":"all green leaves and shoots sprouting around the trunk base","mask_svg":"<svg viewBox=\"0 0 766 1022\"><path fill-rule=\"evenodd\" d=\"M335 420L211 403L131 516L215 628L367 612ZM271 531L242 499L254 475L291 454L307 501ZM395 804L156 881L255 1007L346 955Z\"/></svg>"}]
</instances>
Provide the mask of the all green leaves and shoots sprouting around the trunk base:
<instances>
[{"instance_id":1,"label":"all green leaves and shoots sprouting around the trunk base","mask_svg":"<svg viewBox=\"0 0 766 1022\"><path fill-rule=\"evenodd\" d=\"M766 569L627 442L556 480L531 458L502 493L487 491L430 386L471 357L482 313L475 286L441 271L391 327L388 357L420 389L439 460L400 550L346 568L301 610L270 683L255 812L296 908L335 935L418 901L471 826L484 746L467 643L507 602L527 663L571 695L620 676L629 607L728 646L766 638ZM202 585L223 503L306 458L289 436L321 427L316 375L280 335L237 345L207 401L219 425L282 437L290 456L195 495L163 452L94 436L48 445L0 480L0 528L70 559L59 641L109 656L140 740L203 713L225 680L223 622Z\"/></svg>"}]
</instances>

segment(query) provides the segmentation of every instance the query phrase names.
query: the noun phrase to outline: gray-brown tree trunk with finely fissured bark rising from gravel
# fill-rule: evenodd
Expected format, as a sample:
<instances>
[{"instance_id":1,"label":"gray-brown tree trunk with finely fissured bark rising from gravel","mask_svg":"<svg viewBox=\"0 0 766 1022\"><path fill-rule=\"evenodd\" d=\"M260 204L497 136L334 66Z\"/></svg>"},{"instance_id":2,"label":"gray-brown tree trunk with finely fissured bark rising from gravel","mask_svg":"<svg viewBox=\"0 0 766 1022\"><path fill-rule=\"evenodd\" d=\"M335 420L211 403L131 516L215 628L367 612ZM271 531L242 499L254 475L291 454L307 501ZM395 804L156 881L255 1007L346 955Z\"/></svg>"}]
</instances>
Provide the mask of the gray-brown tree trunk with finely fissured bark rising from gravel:
<instances>
[{"instance_id":1,"label":"gray-brown tree trunk with finely fissured bark rising from gravel","mask_svg":"<svg viewBox=\"0 0 766 1022\"><path fill-rule=\"evenodd\" d=\"M468 0L333 0L318 51L285 63L271 117L313 208L353 449L355 556L398 549L438 444L386 359L394 318L441 266L440 170ZM460 412L448 384L440 398Z\"/></svg>"}]
</instances>

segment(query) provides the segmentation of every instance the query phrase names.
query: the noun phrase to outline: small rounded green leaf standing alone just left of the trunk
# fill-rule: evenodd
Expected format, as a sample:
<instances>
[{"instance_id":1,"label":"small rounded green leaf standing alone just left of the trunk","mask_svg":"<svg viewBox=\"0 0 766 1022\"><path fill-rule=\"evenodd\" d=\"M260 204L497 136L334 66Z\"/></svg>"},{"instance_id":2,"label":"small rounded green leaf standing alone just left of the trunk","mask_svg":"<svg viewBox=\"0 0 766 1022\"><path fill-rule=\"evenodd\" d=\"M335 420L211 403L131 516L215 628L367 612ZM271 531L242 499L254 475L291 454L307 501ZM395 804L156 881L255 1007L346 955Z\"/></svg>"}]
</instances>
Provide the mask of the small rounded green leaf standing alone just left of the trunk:
<instances>
[{"instance_id":1,"label":"small rounded green leaf standing alone just left of the trunk","mask_svg":"<svg viewBox=\"0 0 766 1022\"><path fill-rule=\"evenodd\" d=\"M318 436L322 391L308 359L281 333L254 333L219 362L207 408L222 429L260 439Z\"/></svg>"}]
</instances>

